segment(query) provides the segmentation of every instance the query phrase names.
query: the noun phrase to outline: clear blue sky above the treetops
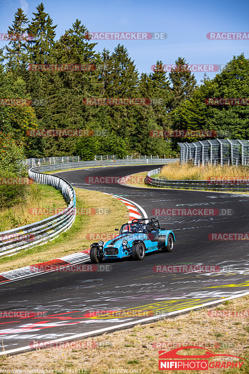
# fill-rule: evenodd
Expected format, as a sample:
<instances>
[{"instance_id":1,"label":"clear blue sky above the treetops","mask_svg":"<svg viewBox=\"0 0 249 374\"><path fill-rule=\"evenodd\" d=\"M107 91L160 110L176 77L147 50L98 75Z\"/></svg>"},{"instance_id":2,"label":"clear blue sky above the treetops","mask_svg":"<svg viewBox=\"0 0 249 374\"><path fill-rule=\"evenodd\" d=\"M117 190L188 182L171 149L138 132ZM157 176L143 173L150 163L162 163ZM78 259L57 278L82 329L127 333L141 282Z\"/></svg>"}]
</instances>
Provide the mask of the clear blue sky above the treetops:
<instances>
[{"instance_id":1,"label":"clear blue sky above the treetops","mask_svg":"<svg viewBox=\"0 0 249 374\"><path fill-rule=\"evenodd\" d=\"M6 33L14 14L21 7L32 18L41 1L0 0L0 33ZM139 73L150 73L157 60L174 64L178 56L189 64L226 64L244 52L249 58L249 40L208 40L209 32L249 34L248 0L44 0L60 37L78 18L90 32L164 32L166 40L123 40ZM96 51L113 51L117 40L96 40ZM4 45L4 42L0 42ZM1 47L1 44L0 44ZM197 82L203 72L194 73ZM207 73L210 78L215 73Z\"/></svg>"}]
</instances>

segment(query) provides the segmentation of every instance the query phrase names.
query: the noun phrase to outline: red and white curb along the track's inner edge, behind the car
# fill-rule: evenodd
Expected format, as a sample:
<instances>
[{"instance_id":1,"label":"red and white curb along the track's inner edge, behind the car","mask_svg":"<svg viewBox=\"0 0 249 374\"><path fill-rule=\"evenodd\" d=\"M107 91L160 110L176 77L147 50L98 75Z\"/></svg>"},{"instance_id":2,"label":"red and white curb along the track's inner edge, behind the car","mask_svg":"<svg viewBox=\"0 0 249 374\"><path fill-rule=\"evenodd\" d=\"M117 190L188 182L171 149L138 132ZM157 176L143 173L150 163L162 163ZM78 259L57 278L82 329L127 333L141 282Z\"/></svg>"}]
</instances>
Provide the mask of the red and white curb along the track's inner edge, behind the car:
<instances>
[{"instance_id":1,"label":"red and white curb along the track's inner edge, behind the car","mask_svg":"<svg viewBox=\"0 0 249 374\"><path fill-rule=\"evenodd\" d=\"M127 199L122 199L121 197L118 197L118 196L115 196L109 193L107 193L107 195L115 197L115 199L122 201L122 203L124 203L127 206L127 209L130 215L129 223L134 218L142 218L136 206L140 209L140 211L144 215L144 218L147 218L146 212L138 204ZM56 270L62 269L63 267L69 267L75 264L90 261L89 253L90 253L90 248L85 249L82 252L73 253L65 257L60 257L54 260L42 262L39 264L29 265L29 266L21 267L19 269L9 270L7 272L0 273L0 283L13 282L18 279L24 279L24 278L28 278L31 276L36 276L41 273L55 272Z\"/></svg>"}]
</instances>

